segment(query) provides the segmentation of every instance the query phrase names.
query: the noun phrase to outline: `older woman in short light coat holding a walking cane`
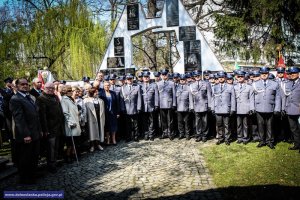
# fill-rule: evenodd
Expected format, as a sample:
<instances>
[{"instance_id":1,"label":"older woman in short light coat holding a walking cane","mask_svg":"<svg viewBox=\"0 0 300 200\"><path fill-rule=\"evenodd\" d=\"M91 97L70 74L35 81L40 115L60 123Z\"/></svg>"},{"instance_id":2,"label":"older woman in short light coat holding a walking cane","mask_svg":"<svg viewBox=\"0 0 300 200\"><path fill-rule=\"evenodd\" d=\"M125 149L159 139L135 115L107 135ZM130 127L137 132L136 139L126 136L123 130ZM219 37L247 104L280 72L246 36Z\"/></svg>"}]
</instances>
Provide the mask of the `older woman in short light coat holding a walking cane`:
<instances>
[{"instance_id":1,"label":"older woman in short light coat holding a walking cane","mask_svg":"<svg viewBox=\"0 0 300 200\"><path fill-rule=\"evenodd\" d=\"M67 162L71 162L71 153L74 154L72 137L74 139L75 146L78 144L79 136L81 135L81 129L79 124L79 112L75 104L75 100L72 98L72 87L66 85L62 89L61 107L65 116L65 134L67 145Z\"/></svg>"}]
</instances>

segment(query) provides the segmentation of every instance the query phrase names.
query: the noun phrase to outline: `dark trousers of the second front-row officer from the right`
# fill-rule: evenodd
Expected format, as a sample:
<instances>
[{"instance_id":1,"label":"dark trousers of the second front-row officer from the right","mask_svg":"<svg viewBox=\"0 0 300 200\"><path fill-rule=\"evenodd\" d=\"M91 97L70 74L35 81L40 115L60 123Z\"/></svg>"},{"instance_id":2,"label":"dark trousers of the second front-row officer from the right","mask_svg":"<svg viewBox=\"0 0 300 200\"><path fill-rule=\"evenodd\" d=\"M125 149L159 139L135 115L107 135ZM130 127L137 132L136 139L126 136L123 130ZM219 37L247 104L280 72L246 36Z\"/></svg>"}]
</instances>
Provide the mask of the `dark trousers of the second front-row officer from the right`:
<instances>
[{"instance_id":1,"label":"dark trousers of the second front-row officer from the right","mask_svg":"<svg viewBox=\"0 0 300 200\"><path fill-rule=\"evenodd\" d=\"M262 143L273 144L274 135L272 133L273 113L257 113L257 125L259 141Z\"/></svg>"}]
</instances>

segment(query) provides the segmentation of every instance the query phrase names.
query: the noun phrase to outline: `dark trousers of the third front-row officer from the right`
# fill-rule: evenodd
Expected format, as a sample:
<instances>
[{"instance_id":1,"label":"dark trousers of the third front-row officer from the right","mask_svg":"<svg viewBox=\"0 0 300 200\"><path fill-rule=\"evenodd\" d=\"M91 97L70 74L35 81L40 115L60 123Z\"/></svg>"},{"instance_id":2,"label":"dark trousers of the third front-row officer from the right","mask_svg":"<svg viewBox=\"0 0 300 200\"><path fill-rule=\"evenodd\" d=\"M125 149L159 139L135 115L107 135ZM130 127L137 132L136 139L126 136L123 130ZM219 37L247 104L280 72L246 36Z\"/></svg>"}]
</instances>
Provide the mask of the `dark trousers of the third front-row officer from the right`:
<instances>
[{"instance_id":1,"label":"dark trousers of the third front-row officer from the right","mask_svg":"<svg viewBox=\"0 0 300 200\"><path fill-rule=\"evenodd\" d=\"M237 140L248 142L249 138L249 130L248 130L248 121L249 115L237 115L236 123L237 123Z\"/></svg>"}]
</instances>

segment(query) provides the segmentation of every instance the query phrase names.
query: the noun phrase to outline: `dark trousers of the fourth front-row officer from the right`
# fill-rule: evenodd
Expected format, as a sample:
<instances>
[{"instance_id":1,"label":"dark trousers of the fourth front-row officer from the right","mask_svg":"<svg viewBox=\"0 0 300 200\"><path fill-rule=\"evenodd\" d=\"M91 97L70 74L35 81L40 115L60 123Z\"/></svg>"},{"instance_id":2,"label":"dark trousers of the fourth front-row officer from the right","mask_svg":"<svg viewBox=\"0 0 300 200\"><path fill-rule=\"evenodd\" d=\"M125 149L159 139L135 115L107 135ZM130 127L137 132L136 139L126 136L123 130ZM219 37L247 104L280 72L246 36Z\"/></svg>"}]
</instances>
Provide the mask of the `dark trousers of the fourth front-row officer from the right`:
<instances>
[{"instance_id":1,"label":"dark trousers of the fourth front-row officer from the right","mask_svg":"<svg viewBox=\"0 0 300 200\"><path fill-rule=\"evenodd\" d=\"M229 141L229 114L216 114L217 139Z\"/></svg>"}]
</instances>

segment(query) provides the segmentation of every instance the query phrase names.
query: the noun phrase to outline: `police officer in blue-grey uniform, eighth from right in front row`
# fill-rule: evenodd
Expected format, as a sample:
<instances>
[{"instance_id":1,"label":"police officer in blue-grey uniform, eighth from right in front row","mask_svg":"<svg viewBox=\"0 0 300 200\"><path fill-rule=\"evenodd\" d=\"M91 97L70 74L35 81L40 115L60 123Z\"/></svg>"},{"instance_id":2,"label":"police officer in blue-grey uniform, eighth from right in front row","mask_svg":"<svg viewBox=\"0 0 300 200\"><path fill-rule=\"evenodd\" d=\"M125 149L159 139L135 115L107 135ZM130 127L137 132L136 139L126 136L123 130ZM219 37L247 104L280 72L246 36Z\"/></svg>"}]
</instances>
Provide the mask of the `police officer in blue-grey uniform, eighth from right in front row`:
<instances>
[{"instance_id":1,"label":"police officer in blue-grey uniform, eighth from right in front row","mask_svg":"<svg viewBox=\"0 0 300 200\"><path fill-rule=\"evenodd\" d=\"M154 140L154 111L158 110L159 98L158 87L155 83L150 83L150 72L143 72L142 92L142 127L145 140Z\"/></svg>"}]
</instances>

